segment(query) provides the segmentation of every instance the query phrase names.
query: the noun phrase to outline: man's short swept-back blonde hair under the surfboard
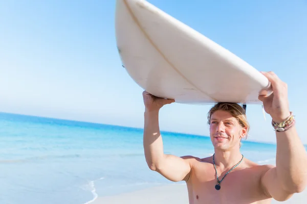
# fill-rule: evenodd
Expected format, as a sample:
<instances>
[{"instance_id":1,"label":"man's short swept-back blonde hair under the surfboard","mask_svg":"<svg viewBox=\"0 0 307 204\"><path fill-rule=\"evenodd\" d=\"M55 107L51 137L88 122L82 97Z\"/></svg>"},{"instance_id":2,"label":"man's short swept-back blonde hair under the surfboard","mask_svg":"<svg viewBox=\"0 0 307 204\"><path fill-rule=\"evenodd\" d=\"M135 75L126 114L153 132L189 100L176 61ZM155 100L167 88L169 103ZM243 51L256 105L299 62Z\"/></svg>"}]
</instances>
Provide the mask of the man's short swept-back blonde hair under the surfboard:
<instances>
[{"instance_id":1,"label":"man's short swept-back blonde hair under the surfboard","mask_svg":"<svg viewBox=\"0 0 307 204\"><path fill-rule=\"evenodd\" d=\"M246 112L244 108L236 103L217 103L215 104L210 111L208 112L208 124L210 124L210 119L212 114L215 111L227 111L229 112L233 117L235 117L239 124L242 127L247 127L247 134L250 130L250 124L247 121Z\"/></svg>"}]
</instances>

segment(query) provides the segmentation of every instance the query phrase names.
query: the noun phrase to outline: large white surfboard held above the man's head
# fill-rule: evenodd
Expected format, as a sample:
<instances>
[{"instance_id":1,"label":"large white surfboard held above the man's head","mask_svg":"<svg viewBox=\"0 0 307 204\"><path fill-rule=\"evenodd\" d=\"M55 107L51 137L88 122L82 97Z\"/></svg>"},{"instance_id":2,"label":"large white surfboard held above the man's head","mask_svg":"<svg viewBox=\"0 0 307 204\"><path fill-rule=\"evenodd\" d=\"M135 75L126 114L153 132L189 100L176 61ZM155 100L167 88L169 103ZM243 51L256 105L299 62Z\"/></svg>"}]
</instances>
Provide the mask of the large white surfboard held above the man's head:
<instances>
[{"instance_id":1,"label":"large white surfboard held above the man's head","mask_svg":"<svg viewBox=\"0 0 307 204\"><path fill-rule=\"evenodd\" d=\"M117 0L115 17L123 66L155 96L184 104L260 104L258 95L271 92L254 67L144 0Z\"/></svg>"}]
</instances>

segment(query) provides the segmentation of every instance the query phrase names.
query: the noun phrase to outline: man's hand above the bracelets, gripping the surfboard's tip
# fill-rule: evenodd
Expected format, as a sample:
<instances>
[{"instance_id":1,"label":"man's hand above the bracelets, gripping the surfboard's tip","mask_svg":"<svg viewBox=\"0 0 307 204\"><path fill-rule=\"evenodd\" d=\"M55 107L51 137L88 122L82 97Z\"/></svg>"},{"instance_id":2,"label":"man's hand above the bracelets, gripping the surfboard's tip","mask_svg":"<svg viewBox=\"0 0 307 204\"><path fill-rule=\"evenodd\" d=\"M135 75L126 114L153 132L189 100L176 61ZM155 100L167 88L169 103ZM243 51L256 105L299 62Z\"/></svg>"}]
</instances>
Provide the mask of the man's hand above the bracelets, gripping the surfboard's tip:
<instances>
[{"instance_id":1,"label":"man's hand above the bracelets, gripping the surfboard's tip","mask_svg":"<svg viewBox=\"0 0 307 204\"><path fill-rule=\"evenodd\" d=\"M259 95L265 111L271 115L274 122L283 122L289 115L288 86L272 72L262 72L271 82L273 93L269 96Z\"/></svg>"}]
</instances>

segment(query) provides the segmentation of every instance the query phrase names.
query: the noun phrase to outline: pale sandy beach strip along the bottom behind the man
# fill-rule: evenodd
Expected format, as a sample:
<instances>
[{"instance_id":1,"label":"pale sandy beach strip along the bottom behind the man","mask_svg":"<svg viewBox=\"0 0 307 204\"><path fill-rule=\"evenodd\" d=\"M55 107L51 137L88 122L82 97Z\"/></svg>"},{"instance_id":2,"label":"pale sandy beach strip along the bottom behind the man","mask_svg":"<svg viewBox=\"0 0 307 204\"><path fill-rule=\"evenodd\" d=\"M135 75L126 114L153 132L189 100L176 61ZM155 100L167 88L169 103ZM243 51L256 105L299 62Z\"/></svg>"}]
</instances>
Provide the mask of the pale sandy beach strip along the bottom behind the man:
<instances>
[{"instance_id":1,"label":"pale sandy beach strip along the bottom behind the man","mask_svg":"<svg viewBox=\"0 0 307 204\"><path fill-rule=\"evenodd\" d=\"M279 202L272 200L271 203L297 203L305 204L307 201L307 190L294 194L289 200ZM116 196L98 197L92 204L188 204L188 194L185 185L174 184L161 187L123 193Z\"/></svg>"}]
</instances>

